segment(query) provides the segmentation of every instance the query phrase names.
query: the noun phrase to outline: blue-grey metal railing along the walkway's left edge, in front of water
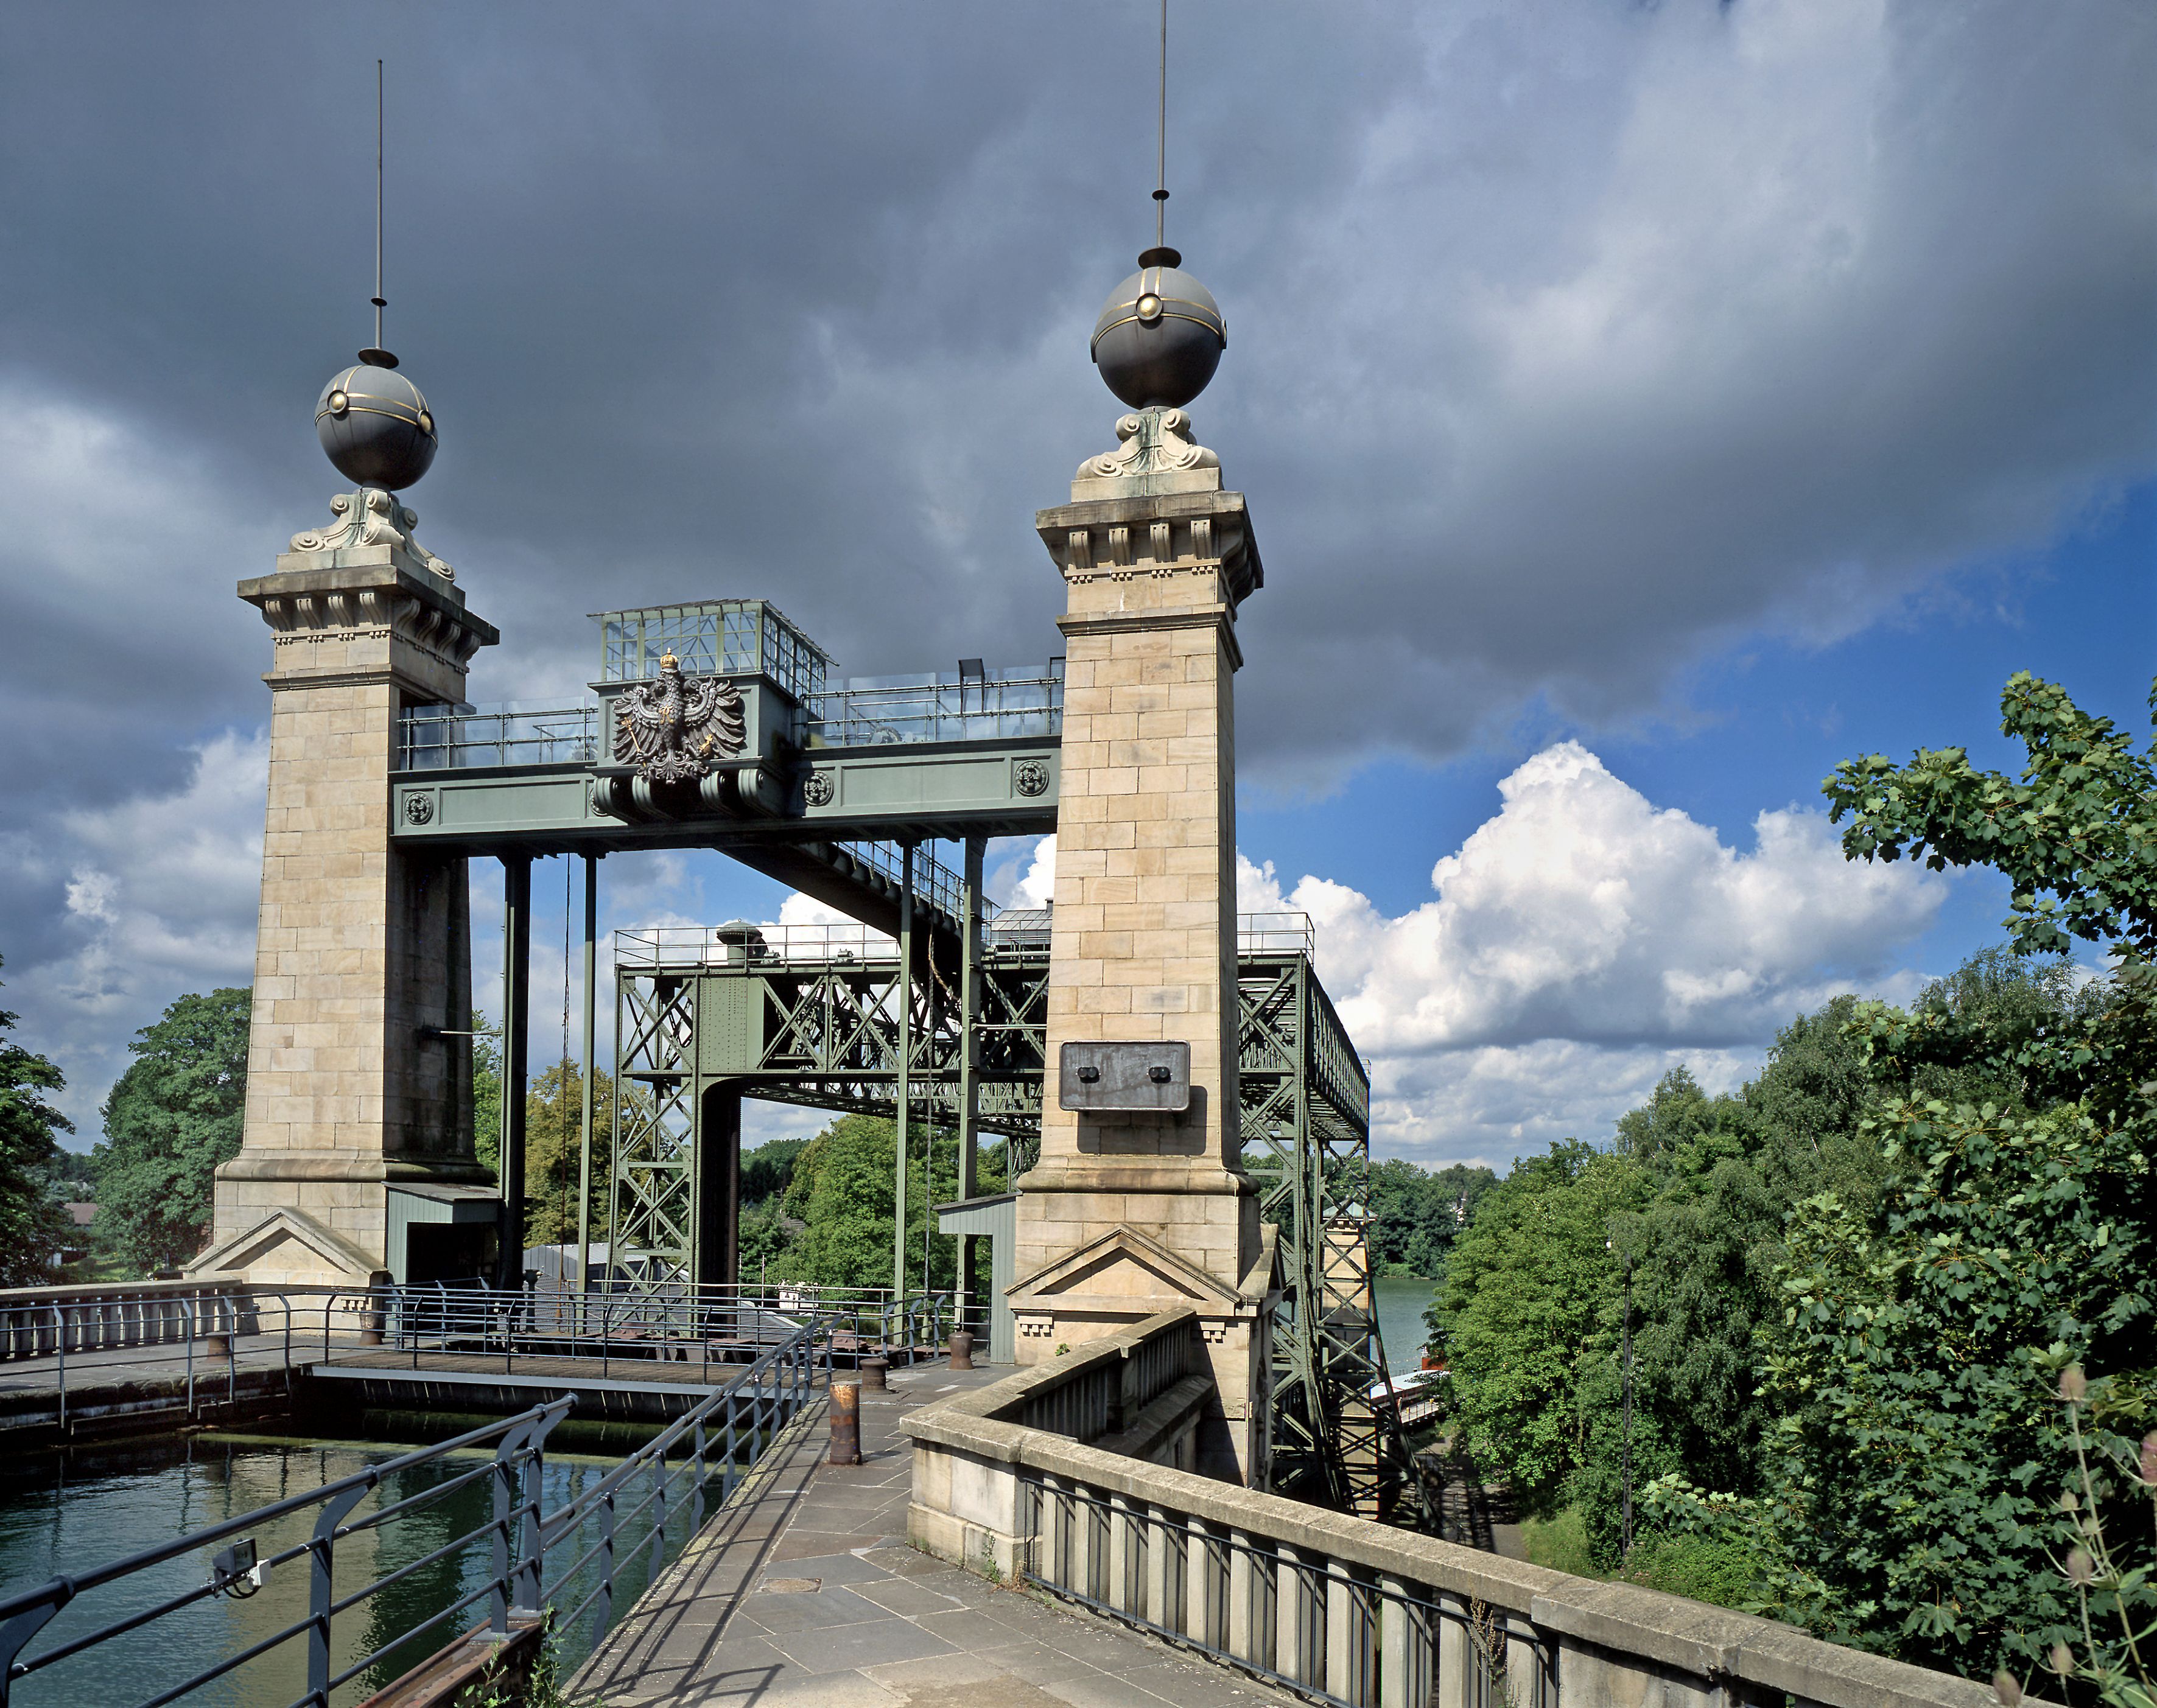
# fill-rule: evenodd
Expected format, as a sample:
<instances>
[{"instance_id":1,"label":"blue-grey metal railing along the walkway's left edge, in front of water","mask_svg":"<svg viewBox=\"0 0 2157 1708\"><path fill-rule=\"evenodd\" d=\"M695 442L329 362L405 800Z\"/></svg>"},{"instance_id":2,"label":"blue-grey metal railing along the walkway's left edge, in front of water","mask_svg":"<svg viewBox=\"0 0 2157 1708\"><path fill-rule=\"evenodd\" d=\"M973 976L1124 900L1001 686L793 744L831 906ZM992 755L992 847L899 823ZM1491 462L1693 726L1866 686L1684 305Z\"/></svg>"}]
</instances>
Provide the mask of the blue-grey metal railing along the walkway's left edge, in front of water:
<instances>
[{"instance_id":1,"label":"blue-grey metal railing along the walkway's left edge, in front of water","mask_svg":"<svg viewBox=\"0 0 2157 1708\"><path fill-rule=\"evenodd\" d=\"M820 1356L822 1354L822 1356ZM289 1620L276 1630L259 1637L233 1654L194 1676L147 1697L140 1708L162 1708L190 1691L224 1678L287 1643L306 1648L306 1691L293 1699L291 1708L328 1708L330 1695L343 1684L384 1663L390 1654L410 1645L416 1637L442 1628L477 1602L487 1602L487 1628L496 1637L507 1637L513 1615L539 1615L539 1609L554 1604L561 1622L574 1622L593 1611L593 1641L606 1633L615 1617L617 1574L643 1564L649 1551L649 1576L658 1574L667 1542L667 1525L675 1486L688 1482L688 1531L703 1520L705 1484L712 1473L712 1451L720 1454L716 1475L720 1499L733 1492L742 1473L742 1449L753 1464L772 1436L807 1404L815 1391L818 1369L830 1365L830 1341L826 1324L800 1326L783 1344L766 1348L751 1365L742 1367L725 1387L714 1389L695 1410L675 1419L636 1454L600 1477L593 1486L559 1505L541 1512L541 1464L548 1432L576 1404L574 1397L552 1400L544 1406L518 1413L516 1417L490 1423L481 1430L455 1436L434 1447L373 1464L349 1477L324 1484L306 1494L276 1501L237 1518L192 1531L173 1542L106 1561L86 1572L54 1576L35 1589L24 1589L0 1598L0 1708L6 1708L17 1680L30 1678L71 1661L80 1654L95 1654L101 1643L142 1630L160 1620L186 1615L190 1607L201 1607L224 1594L255 1594L278 1568L298 1559L308 1561L306 1613ZM384 1484L401 1473L446 1460L453 1454L492 1447L492 1456L466 1471L444 1477L403 1499L390 1499L377 1510L354 1516L358 1507ZM679 1460L669 1464L669 1460ZM427 1548L395 1570L369 1579L365 1585L336 1587L336 1548L347 1538L382 1531L395 1523L412 1520L438 1507L440 1501L472 1484L492 1488L492 1514L446 1542L421 1525L418 1546ZM311 1535L293 1546L261 1555L252 1546L252 1533L289 1518L315 1512ZM434 1516L440 1523L440 1516ZM585 1531L595 1529L595 1540L585 1544ZM110 1617L91 1630L80 1630L50 1643L37 1654L24 1656L30 1641L69 1607L84 1604L88 1596L138 1579L175 1559L205 1555L220 1542L235 1546L216 1559L203 1559L203 1581L181 1594L151 1600L147 1607ZM427 1546L434 1544L434 1546ZM446 1607L425 1617L416 1617L388 1639L365 1652L360 1658L334 1665L334 1624L339 1617L365 1607L373 1596L403 1583L416 1572L457 1561L477 1546L490 1551L487 1572L479 1587L468 1589ZM365 1551L365 1559L375 1559L380 1548ZM572 1602L559 1607L561 1596L585 1576L595 1581ZM242 1587L246 1585L246 1587ZM123 1602L127 1596L112 1596ZM371 1609L367 1637L380 1637L384 1615L380 1604ZM449 1633L444 1633L446 1637ZM91 1663L95 1667L95 1661ZM99 1695L99 1702L106 1697Z\"/></svg>"}]
</instances>

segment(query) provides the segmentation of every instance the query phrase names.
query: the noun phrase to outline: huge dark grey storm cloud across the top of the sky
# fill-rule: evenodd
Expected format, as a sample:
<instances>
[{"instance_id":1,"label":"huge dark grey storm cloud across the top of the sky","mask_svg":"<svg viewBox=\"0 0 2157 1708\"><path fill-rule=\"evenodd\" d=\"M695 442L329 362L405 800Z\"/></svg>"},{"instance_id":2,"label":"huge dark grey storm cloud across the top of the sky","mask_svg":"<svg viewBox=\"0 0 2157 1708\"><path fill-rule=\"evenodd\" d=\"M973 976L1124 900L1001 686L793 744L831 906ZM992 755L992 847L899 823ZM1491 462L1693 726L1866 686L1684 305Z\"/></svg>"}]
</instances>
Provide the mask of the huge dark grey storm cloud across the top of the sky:
<instances>
[{"instance_id":1,"label":"huge dark grey storm cloud across the top of the sky","mask_svg":"<svg viewBox=\"0 0 2157 1708\"><path fill-rule=\"evenodd\" d=\"M1730 636L1861 628L2144 477L2153 17L1178 0L1169 235L1232 328L1195 414L1270 571L1245 772L1652 714ZM308 412L369 330L377 54L388 343L444 425L410 500L505 630L472 697L533 699L608 604L768 595L852 673L1057 647L1031 511L1113 444L1083 349L1152 235L1150 32L0 13L11 983L164 919L134 802L259 826L231 587L336 487ZM203 886L242 947L246 891Z\"/></svg>"}]
</instances>

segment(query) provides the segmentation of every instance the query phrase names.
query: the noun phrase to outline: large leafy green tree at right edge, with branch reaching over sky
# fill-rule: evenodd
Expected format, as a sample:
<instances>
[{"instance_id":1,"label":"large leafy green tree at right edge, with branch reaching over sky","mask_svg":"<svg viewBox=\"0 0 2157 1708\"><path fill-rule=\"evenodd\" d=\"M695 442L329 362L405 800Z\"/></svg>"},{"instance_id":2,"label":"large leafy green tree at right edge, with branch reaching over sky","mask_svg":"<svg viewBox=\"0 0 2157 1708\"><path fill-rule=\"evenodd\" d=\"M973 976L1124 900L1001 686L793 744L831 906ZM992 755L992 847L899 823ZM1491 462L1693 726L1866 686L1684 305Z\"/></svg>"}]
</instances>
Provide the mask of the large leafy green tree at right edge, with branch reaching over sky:
<instances>
[{"instance_id":1,"label":"large leafy green tree at right edge, with branch reaching over sky","mask_svg":"<svg viewBox=\"0 0 2157 1708\"><path fill-rule=\"evenodd\" d=\"M2157 766L2030 675L2002 729L2019 779L1943 748L1823 785L1851 858L2006 873L2021 960L1974 964L1913 1011L1853 1009L1905 1175L1877 1208L1799 1206L1769 1365L1780 1609L1974 1673L2028 1673L2069 1633L2047 1544L2077 1464L2053 1374L2075 1363L2122 1395L2157 1380ZM2110 977L2030 960L2077 940ZM2140 1533L2125 1510L2094 1516ZM2142 1544L2129 1568L2153 1564Z\"/></svg>"}]
</instances>

